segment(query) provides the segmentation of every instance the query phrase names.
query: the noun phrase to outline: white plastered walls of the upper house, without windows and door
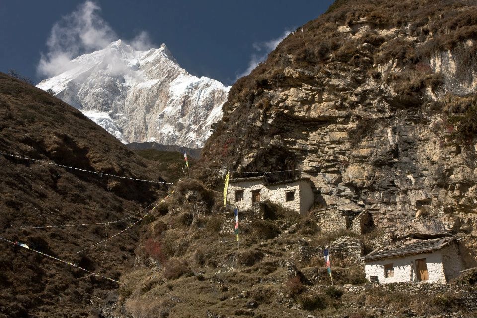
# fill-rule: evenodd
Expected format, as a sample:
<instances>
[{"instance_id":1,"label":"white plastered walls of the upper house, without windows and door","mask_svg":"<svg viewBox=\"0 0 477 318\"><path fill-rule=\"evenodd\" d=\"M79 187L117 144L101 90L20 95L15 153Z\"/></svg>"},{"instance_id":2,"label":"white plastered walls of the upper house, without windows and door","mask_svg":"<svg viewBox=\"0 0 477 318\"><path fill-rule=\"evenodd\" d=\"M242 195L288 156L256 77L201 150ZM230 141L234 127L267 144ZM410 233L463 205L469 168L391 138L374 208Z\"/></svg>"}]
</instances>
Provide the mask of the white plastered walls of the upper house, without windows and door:
<instances>
[{"instance_id":1,"label":"white plastered walls of the upper house, without windows and door","mask_svg":"<svg viewBox=\"0 0 477 318\"><path fill-rule=\"evenodd\" d=\"M237 190L244 190L243 201L235 201L235 191ZM307 180L269 186L263 185L262 180L233 182L229 184L227 200L241 210L250 210L252 208L252 191L254 190L260 190L260 201L270 200L302 214L307 213L314 202L313 191ZM295 191L293 201L286 201L285 193L288 191Z\"/></svg>"}]
</instances>

